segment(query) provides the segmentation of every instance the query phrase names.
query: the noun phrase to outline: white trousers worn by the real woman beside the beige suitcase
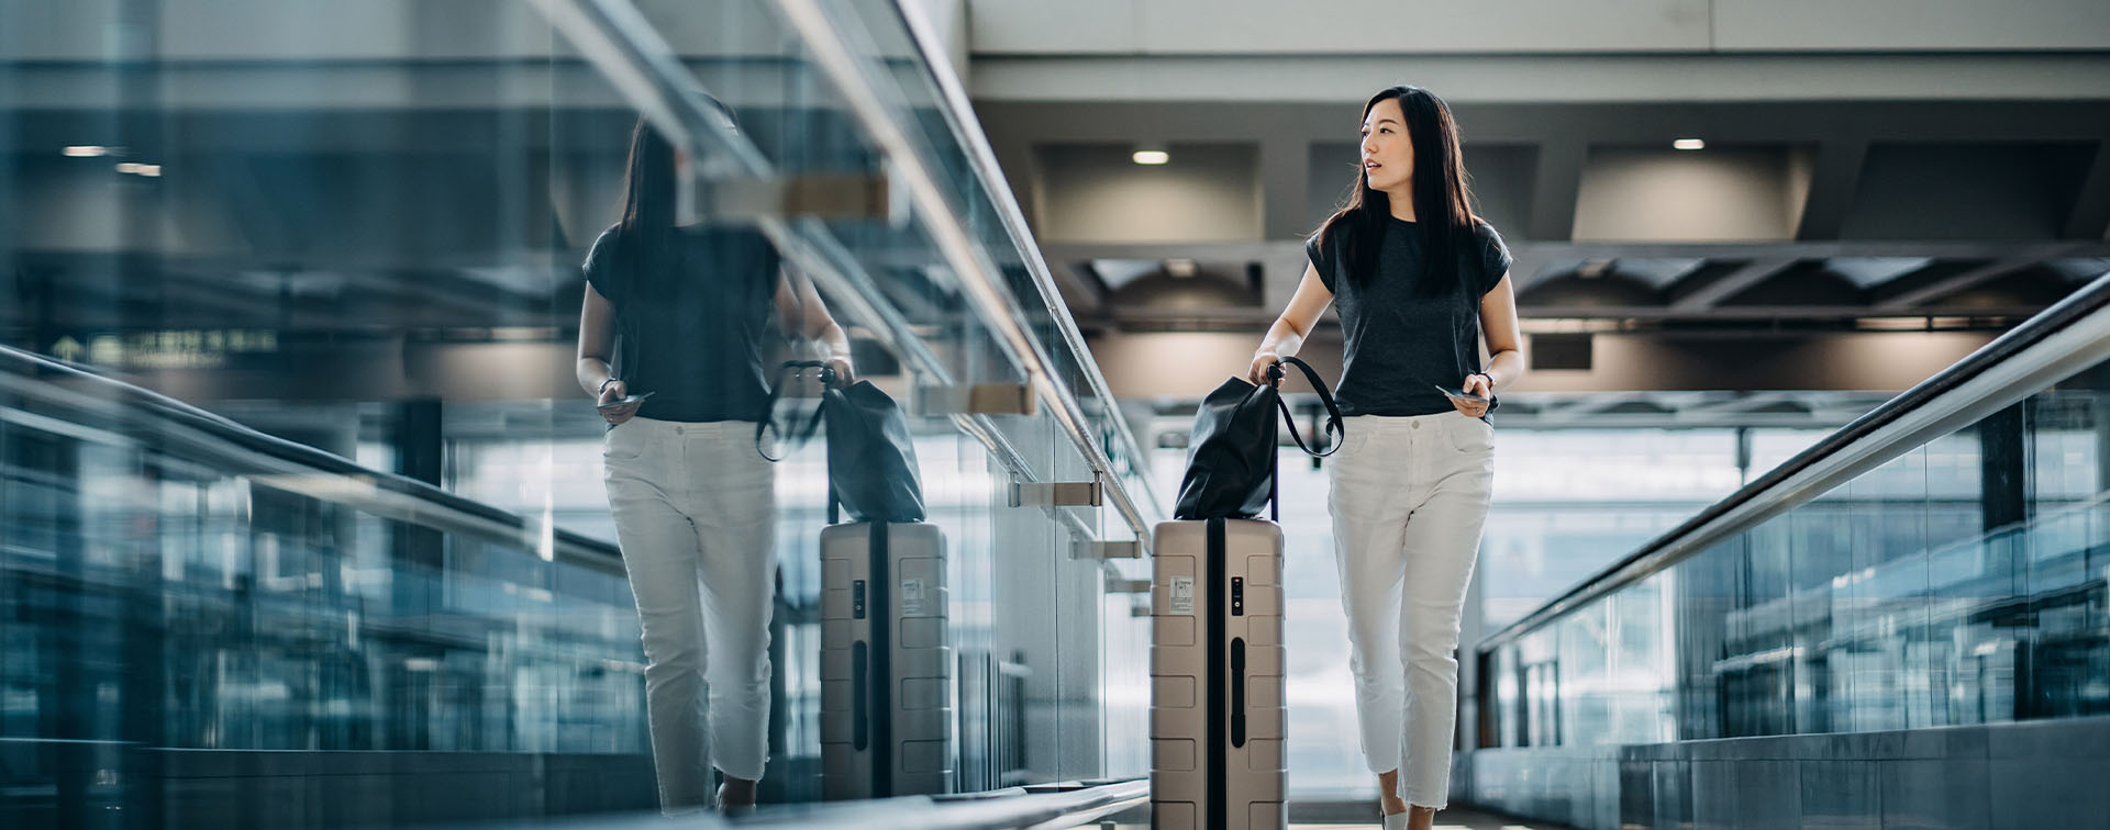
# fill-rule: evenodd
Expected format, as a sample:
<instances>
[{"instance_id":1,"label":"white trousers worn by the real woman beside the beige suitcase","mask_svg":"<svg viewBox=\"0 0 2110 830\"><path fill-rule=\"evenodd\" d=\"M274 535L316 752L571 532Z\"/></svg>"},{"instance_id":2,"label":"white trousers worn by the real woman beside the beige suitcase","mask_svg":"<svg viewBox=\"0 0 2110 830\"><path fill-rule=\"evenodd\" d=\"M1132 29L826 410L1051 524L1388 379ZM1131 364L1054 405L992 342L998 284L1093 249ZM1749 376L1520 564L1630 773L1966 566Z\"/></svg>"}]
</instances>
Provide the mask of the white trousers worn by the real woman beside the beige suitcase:
<instances>
[{"instance_id":1,"label":"white trousers worn by the real woman beside the beige suitcase","mask_svg":"<svg viewBox=\"0 0 2110 830\"><path fill-rule=\"evenodd\" d=\"M1445 807L1458 613L1494 482L1494 428L1462 413L1346 419L1327 466L1348 668L1369 771Z\"/></svg>"}]
</instances>

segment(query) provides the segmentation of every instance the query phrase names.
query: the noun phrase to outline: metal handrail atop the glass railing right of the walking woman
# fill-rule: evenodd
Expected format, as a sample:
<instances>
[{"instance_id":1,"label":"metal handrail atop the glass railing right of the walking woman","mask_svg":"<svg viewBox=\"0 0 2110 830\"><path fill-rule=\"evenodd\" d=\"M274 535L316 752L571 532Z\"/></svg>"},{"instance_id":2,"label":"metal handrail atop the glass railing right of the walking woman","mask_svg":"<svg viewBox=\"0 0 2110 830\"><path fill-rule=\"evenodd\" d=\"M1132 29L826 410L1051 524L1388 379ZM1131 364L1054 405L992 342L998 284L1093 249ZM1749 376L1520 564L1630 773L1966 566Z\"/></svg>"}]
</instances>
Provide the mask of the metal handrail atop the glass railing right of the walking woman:
<instances>
[{"instance_id":1,"label":"metal handrail atop the glass railing right of the walking woman","mask_svg":"<svg viewBox=\"0 0 2110 830\"><path fill-rule=\"evenodd\" d=\"M1530 634L1926 440L1971 426L2076 371L2110 360L2110 314L2099 314L2104 310L2110 310L2110 274L1479 640L1479 651L1488 653Z\"/></svg>"}]
</instances>

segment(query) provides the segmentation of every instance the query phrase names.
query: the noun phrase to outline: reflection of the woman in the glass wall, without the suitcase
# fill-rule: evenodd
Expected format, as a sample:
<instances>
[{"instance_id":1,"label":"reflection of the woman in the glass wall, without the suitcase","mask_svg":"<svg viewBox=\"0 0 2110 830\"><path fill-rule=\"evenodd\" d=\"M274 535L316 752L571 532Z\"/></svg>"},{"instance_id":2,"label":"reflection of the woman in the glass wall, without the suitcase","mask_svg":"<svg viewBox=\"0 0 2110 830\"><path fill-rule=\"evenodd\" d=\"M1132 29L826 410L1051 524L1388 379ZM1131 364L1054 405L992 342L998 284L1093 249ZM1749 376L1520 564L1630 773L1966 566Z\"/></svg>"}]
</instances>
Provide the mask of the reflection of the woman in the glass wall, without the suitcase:
<instances>
[{"instance_id":1,"label":"reflection of the woman in the glass wall, without the suitcase","mask_svg":"<svg viewBox=\"0 0 2110 830\"><path fill-rule=\"evenodd\" d=\"M724 110L720 110L726 114ZM726 114L724 129L734 129ZM768 417L764 331L819 339L850 381L850 345L812 286L779 270L753 228L675 223L686 158L631 135L622 221L587 253L578 383L603 409L606 480L644 626L646 708L660 809L755 801L768 760L774 472L755 453Z\"/></svg>"}]
</instances>

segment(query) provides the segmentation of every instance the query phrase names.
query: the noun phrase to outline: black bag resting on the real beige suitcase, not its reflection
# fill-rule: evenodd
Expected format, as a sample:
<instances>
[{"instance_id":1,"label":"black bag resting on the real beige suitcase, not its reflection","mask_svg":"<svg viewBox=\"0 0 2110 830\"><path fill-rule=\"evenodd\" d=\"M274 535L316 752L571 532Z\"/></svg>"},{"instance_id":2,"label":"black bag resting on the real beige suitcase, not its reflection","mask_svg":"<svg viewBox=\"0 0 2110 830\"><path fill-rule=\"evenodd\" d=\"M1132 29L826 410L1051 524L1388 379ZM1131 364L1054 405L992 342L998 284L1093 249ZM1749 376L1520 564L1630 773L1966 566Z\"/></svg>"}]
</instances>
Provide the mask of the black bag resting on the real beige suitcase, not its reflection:
<instances>
[{"instance_id":1,"label":"black bag resting on the real beige suitcase, not its reflection","mask_svg":"<svg viewBox=\"0 0 2110 830\"><path fill-rule=\"evenodd\" d=\"M1298 434L1298 421L1283 402L1283 364L1304 371L1319 400L1327 409L1327 451L1312 451ZM1281 440L1274 417L1289 423L1289 436L1298 447L1315 457L1334 455L1340 449L1342 423L1334 392L1310 364L1298 358L1283 358L1268 367L1268 386L1253 386L1243 377L1232 377L1201 400L1194 413L1194 432L1188 438L1188 470L1179 480L1179 501L1173 518L1253 518L1274 499L1274 457Z\"/></svg>"}]
</instances>

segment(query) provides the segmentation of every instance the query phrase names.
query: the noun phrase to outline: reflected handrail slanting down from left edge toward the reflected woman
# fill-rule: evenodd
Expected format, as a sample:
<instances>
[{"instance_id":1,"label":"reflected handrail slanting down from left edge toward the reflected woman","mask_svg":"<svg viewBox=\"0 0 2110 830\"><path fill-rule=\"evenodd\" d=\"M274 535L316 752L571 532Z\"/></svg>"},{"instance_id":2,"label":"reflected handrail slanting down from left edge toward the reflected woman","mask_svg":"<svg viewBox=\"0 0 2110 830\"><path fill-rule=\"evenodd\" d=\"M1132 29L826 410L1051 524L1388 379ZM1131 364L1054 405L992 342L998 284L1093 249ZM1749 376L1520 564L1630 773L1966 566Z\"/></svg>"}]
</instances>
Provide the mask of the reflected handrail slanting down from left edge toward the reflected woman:
<instances>
[{"instance_id":1,"label":"reflected handrail slanting down from left edge toward the reflected woman","mask_svg":"<svg viewBox=\"0 0 2110 830\"><path fill-rule=\"evenodd\" d=\"M152 434L236 476L314 499L344 503L447 533L519 541L542 548L542 525L435 485L359 466L342 455L270 436L160 392L97 375L32 352L0 345L0 386L68 411L103 407L114 417L146 417ZM68 388L70 386L70 388ZM616 546L563 529L549 531L549 558L622 573Z\"/></svg>"}]
</instances>

